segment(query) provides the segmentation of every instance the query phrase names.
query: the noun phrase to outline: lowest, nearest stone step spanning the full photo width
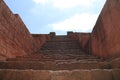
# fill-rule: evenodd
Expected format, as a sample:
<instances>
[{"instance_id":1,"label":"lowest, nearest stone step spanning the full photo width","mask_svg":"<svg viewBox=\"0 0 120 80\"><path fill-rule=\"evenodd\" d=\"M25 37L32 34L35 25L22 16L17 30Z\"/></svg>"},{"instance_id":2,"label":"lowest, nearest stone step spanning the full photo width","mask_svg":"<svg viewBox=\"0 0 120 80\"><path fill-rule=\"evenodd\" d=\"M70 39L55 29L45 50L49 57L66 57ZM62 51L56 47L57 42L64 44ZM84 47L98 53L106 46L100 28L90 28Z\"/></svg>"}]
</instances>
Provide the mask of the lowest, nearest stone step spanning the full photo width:
<instances>
[{"instance_id":1,"label":"lowest, nearest stone step spanning the full photo width","mask_svg":"<svg viewBox=\"0 0 120 80\"><path fill-rule=\"evenodd\" d=\"M0 80L120 80L120 69L18 70L0 69Z\"/></svg>"}]
</instances>

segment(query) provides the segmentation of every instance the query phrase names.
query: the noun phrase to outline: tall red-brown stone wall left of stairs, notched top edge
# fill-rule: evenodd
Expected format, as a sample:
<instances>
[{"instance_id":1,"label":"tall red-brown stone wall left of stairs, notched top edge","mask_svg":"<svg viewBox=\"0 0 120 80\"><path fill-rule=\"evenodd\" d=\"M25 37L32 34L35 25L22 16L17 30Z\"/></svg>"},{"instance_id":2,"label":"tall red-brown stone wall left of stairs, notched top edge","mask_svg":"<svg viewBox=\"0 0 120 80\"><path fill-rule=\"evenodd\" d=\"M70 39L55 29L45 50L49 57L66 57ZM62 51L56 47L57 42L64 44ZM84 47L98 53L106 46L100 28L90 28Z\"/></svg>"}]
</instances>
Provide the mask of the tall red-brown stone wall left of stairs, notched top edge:
<instances>
[{"instance_id":1,"label":"tall red-brown stone wall left of stairs, notched top edge","mask_svg":"<svg viewBox=\"0 0 120 80\"><path fill-rule=\"evenodd\" d=\"M0 60L31 53L33 38L19 15L0 0Z\"/></svg>"}]
</instances>

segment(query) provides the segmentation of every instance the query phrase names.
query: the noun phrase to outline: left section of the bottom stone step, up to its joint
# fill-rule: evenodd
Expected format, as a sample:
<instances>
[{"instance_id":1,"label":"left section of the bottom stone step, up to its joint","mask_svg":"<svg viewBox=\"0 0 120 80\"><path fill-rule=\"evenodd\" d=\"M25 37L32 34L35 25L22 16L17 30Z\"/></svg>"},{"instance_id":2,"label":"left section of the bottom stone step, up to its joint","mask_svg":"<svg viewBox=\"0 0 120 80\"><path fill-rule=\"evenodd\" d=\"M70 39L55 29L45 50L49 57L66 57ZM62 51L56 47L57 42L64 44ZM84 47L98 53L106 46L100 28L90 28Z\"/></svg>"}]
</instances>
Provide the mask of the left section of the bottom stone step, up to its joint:
<instances>
[{"instance_id":1,"label":"left section of the bottom stone step, up to its joint","mask_svg":"<svg viewBox=\"0 0 120 80\"><path fill-rule=\"evenodd\" d=\"M0 70L0 80L51 80L51 73L44 70Z\"/></svg>"}]
</instances>

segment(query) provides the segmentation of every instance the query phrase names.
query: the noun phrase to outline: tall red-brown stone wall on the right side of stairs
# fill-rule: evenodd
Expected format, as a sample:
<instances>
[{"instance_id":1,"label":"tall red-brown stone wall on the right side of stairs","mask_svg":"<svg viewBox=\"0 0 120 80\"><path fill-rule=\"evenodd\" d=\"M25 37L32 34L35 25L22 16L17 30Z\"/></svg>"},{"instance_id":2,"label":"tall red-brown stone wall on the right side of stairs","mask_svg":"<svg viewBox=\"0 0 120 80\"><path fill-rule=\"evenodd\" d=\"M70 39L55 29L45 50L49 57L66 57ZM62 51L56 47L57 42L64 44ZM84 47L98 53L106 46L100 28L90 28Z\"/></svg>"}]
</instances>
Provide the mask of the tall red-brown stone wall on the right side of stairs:
<instances>
[{"instance_id":1,"label":"tall red-brown stone wall on the right side of stairs","mask_svg":"<svg viewBox=\"0 0 120 80\"><path fill-rule=\"evenodd\" d=\"M120 56L120 0L107 0L91 37L92 53L110 58Z\"/></svg>"}]
</instances>

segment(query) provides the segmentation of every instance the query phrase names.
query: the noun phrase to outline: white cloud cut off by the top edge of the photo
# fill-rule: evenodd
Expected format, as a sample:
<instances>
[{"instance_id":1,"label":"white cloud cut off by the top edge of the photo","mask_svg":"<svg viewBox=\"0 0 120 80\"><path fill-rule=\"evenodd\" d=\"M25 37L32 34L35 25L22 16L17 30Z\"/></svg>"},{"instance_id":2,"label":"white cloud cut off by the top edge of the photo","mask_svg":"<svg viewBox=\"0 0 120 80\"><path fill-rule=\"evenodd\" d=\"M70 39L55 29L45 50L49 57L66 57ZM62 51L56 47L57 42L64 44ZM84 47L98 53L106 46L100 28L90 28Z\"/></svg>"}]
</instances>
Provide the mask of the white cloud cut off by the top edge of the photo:
<instances>
[{"instance_id":1,"label":"white cloud cut off by the top edge of the photo","mask_svg":"<svg viewBox=\"0 0 120 80\"><path fill-rule=\"evenodd\" d=\"M105 0L33 0L36 4L45 4L49 2L52 6L58 9L89 7L95 3L103 3Z\"/></svg>"}]
</instances>

